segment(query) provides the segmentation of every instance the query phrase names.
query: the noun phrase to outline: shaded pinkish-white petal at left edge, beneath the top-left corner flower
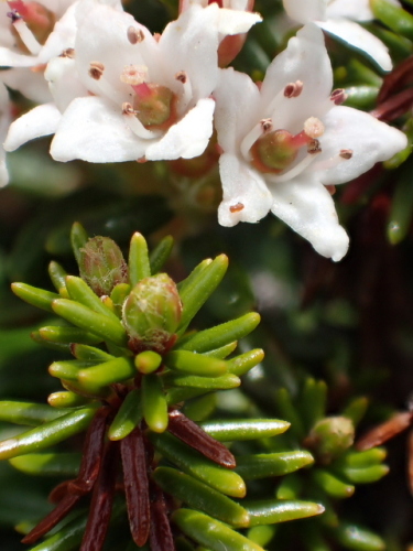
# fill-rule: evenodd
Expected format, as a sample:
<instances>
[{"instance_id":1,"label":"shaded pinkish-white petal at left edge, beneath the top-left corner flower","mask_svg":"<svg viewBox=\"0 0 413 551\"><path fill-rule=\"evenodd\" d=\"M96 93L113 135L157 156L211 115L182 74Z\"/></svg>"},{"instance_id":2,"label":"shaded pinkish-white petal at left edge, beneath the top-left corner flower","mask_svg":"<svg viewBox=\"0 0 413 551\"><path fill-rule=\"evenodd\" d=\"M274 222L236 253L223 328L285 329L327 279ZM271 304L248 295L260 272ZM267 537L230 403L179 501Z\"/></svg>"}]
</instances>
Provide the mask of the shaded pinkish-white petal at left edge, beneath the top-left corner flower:
<instances>
[{"instance_id":1,"label":"shaded pinkish-white petal at left edge, beneath the top-left corner flower","mask_svg":"<svg viewBox=\"0 0 413 551\"><path fill-rule=\"evenodd\" d=\"M37 73L28 71L26 67L18 67L2 71L1 79L9 88L19 90L36 104L46 104L52 100L43 72Z\"/></svg>"}]
</instances>

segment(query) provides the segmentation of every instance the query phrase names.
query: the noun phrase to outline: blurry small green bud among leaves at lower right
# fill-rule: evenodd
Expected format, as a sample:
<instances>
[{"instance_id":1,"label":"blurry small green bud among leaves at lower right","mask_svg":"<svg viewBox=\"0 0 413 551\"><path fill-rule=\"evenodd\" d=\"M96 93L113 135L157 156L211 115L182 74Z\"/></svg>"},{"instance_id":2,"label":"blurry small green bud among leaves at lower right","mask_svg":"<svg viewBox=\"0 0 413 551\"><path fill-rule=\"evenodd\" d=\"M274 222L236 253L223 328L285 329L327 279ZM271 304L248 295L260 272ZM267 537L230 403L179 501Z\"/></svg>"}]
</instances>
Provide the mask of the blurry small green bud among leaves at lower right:
<instances>
[{"instance_id":1,"label":"blurry small green bud among leaves at lower right","mask_svg":"<svg viewBox=\"0 0 413 551\"><path fill-rule=\"evenodd\" d=\"M324 464L341 455L355 441L355 425L345 417L327 417L316 423L305 444Z\"/></svg>"}]
</instances>

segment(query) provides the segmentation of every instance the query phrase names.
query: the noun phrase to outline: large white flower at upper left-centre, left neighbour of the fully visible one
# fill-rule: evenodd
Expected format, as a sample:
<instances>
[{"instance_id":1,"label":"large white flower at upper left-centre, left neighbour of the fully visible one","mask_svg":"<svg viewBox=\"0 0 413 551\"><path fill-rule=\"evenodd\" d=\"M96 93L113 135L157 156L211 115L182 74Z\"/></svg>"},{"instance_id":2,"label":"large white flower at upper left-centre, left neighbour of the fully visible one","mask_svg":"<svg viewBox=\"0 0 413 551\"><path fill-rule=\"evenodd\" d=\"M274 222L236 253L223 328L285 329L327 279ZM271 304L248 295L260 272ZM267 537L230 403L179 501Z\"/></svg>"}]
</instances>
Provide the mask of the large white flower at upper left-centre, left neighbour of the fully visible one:
<instances>
[{"instance_id":1,"label":"large white flower at upper left-centre, left neighbour of the fully visible one","mask_svg":"<svg viewBox=\"0 0 413 551\"><path fill-rule=\"evenodd\" d=\"M55 102L18 119L6 148L55 133L51 154L64 162L203 153L213 132L218 6L192 6L155 37L130 14L89 4L87 18L77 10L74 57L48 64Z\"/></svg>"}]
</instances>

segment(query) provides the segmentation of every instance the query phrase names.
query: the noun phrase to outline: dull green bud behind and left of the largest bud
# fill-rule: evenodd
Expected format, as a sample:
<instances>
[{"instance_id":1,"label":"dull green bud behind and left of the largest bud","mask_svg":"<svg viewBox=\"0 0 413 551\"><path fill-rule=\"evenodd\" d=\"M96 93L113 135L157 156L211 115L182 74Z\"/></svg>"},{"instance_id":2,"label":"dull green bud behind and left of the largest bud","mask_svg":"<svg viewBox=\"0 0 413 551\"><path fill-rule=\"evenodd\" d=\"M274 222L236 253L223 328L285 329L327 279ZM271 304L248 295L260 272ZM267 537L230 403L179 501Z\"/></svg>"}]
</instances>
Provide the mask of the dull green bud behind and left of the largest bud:
<instances>
[{"instance_id":1,"label":"dull green bud behind and left of the largest bud","mask_svg":"<svg viewBox=\"0 0 413 551\"><path fill-rule=\"evenodd\" d=\"M109 237L93 237L80 249L80 277L98 295L108 295L119 283L128 282L122 251Z\"/></svg>"}]
</instances>

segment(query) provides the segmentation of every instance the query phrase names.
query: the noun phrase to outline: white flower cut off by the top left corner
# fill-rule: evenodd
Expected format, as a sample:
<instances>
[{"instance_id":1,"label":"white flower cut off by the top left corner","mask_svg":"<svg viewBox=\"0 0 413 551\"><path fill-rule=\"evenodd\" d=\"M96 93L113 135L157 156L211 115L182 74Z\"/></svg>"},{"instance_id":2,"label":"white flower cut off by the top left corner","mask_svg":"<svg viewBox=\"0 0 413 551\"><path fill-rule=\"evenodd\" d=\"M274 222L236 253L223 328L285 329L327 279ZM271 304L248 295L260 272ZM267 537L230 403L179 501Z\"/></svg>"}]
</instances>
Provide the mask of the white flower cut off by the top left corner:
<instances>
[{"instance_id":1,"label":"white flower cut off by the top left corner","mask_svg":"<svg viewBox=\"0 0 413 551\"><path fill-rule=\"evenodd\" d=\"M0 2L0 67L12 67L1 73L7 86L33 101L50 101L44 66L73 47L74 12L74 0Z\"/></svg>"}]
</instances>

